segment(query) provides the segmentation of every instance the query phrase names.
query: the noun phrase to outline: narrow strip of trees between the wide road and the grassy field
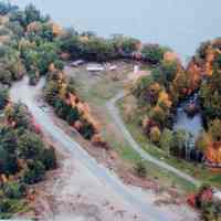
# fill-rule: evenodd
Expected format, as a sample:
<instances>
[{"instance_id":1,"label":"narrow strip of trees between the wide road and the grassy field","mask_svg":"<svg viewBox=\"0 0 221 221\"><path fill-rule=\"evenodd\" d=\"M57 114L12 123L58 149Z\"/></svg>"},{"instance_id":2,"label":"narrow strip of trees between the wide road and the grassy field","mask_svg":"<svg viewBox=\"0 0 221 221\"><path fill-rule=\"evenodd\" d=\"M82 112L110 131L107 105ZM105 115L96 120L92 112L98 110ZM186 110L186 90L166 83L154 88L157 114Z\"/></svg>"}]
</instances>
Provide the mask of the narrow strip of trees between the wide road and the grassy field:
<instances>
[{"instance_id":1,"label":"narrow strip of trees between the wide road and the grassy field","mask_svg":"<svg viewBox=\"0 0 221 221\"><path fill-rule=\"evenodd\" d=\"M90 114L88 105L76 95L74 81L67 81L64 73L54 65L50 70L44 88L46 102L54 107L59 117L78 130L85 139L92 139L98 128Z\"/></svg>"}]
</instances>

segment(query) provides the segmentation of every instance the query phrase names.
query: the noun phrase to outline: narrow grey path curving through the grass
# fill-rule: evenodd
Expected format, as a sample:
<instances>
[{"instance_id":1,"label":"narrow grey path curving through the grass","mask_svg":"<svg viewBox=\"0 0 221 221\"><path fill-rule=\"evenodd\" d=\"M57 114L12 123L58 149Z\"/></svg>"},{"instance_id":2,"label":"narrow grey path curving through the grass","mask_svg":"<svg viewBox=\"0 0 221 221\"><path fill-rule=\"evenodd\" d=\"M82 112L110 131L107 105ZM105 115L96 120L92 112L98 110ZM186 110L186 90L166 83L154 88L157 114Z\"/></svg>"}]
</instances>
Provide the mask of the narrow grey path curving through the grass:
<instances>
[{"instance_id":1,"label":"narrow grey path curving through the grass","mask_svg":"<svg viewBox=\"0 0 221 221\"><path fill-rule=\"evenodd\" d=\"M166 169L170 172L173 172L176 176L196 185L197 187L199 187L201 185L201 182L197 179L194 179L193 177L180 171L179 169L168 165L167 162L160 161L159 159L152 157L151 155L149 155L147 151L145 151L133 138L133 136L130 135L130 133L128 131L128 129L126 128L118 108L116 107L116 102L122 99L124 96L126 96L126 92L122 91L119 92L116 96L114 96L109 102L107 102L106 106L107 109L109 112L109 114L112 115L115 124L118 126L118 128L120 129L122 134L124 135L124 137L127 139L127 141L130 144L131 148L137 151L140 157L147 161L150 161L152 164L155 164L156 166L158 166L159 168Z\"/></svg>"}]
</instances>

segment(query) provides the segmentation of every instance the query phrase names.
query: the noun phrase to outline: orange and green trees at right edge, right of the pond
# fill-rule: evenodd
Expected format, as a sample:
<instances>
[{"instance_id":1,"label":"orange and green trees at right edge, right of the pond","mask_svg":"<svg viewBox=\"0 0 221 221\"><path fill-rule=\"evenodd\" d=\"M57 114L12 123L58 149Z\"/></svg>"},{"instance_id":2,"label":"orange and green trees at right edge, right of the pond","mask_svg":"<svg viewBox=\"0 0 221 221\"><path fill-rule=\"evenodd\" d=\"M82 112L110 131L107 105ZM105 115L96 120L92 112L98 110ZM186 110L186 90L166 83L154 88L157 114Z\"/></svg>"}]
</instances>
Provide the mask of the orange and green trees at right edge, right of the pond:
<instances>
[{"instance_id":1,"label":"orange and green trees at right edge, right of the pond","mask_svg":"<svg viewBox=\"0 0 221 221\"><path fill-rule=\"evenodd\" d=\"M194 56L204 81L199 91L206 131L197 143L211 166L221 166L221 39L204 42Z\"/></svg>"}]
</instances>

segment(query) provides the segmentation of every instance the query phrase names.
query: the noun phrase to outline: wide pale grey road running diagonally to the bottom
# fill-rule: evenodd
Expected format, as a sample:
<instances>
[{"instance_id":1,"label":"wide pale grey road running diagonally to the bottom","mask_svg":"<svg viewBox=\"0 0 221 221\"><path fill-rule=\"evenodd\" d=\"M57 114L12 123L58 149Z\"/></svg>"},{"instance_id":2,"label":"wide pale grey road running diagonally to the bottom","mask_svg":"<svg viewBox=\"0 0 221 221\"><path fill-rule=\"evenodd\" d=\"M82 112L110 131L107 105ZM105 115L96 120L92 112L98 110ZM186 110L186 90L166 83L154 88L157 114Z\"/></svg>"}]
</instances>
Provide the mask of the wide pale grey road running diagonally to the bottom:
<instances>
[{"instance_id":1,"label":"wide pale grey road running diagonally to the bottom","mask_svg":"<svg viewBox=\"0 0 221 221\"><path fill-rule=\"evenodd\" d=\"M43 83L41 84L41 86ZM41 86L38 86L40 90ZM12 102L24 103L32 115L34 116L38 124L41 125L42 129L49 133L54 140L59 141L69 152L74 155L95 176L99 182L108 187L114 193L120 197L125 203L136 208L140 217L145 218L144 221L171 221L172 215L170 213L160 210L148 199L144 200L139 194L131 191L130 187L124 185L114 173L98 165L97 161L92 158L87 151L81 147L80 144L74 141L69 135L66 135L60 127L55 126L51 120L50 114L44 113L35 102L36 87L30 87L27 85L27 81L18 82L13 85L10 91ZM125 131L124 131L125 134Z\"/></svg>"}]
</instances>

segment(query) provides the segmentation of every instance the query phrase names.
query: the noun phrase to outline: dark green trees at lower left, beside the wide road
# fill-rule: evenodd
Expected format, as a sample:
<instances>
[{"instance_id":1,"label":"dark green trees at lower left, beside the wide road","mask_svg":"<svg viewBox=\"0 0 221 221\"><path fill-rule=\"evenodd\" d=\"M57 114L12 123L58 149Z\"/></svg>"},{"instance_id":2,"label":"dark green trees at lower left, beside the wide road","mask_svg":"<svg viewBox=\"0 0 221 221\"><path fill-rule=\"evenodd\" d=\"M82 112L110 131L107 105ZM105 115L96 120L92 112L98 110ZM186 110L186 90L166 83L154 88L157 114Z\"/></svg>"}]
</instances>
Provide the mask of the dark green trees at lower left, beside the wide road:
<instances>
[{"instance_id":1,"label":"dark green trees at lower left, beside the wide road","mask_svg":"<svg viewBox=\"0 0 221 221\"><path fill-rule=\"evenodd\" d=\"M25 206L29 185L44 179L56 167L53 147L22 104L9 103L0 124L0 218L10 218Z\"/></svg>"}]
</instances>

